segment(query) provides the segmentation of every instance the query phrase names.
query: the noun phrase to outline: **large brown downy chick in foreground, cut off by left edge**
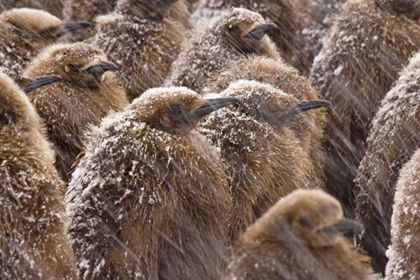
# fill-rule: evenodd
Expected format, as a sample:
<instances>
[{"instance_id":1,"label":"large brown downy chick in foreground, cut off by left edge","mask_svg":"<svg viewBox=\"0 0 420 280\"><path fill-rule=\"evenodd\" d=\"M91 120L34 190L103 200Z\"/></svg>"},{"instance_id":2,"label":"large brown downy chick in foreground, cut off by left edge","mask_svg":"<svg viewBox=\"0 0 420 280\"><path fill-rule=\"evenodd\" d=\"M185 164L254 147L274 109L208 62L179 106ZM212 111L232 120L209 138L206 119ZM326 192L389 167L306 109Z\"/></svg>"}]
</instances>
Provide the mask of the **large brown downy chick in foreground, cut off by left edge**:
<instances>
[{"instance_id":1,"label":"large brown downy chick in foreground, cut off by left edge","mask_svg":"<svg viewBox=\"0 0 420 280\"><path fill-rule=\"evenodd\" d=\"M0 73L0 279L77 279L64 190L40 118Z\"/></svg>"}]
</instances>

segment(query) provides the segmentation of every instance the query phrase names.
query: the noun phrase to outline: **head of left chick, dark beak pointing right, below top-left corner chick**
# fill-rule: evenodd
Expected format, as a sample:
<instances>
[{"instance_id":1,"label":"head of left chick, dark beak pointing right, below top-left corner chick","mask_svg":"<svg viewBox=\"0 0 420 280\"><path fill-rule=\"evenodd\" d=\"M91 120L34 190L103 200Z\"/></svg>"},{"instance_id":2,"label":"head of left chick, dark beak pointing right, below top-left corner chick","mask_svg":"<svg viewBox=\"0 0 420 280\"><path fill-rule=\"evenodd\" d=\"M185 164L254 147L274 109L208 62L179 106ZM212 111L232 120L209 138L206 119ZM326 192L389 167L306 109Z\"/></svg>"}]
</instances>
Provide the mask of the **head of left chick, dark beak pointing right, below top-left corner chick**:
<instances>
[{"instance_id":1,"label":"head of left chick, dark beak pointing right, below top-left corner chick","mask_svg":"<svg viewBox=\"0 0 420 280\"><path fill-rule=\"evenodd\" d=\"M90 44L56 44L46 48L25 70L25 76L59 75L81 88L99 87L108 71L117 70L104 52Z\"/></svg>"}]
</instances>

